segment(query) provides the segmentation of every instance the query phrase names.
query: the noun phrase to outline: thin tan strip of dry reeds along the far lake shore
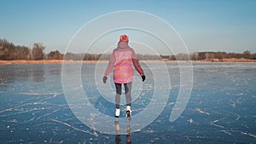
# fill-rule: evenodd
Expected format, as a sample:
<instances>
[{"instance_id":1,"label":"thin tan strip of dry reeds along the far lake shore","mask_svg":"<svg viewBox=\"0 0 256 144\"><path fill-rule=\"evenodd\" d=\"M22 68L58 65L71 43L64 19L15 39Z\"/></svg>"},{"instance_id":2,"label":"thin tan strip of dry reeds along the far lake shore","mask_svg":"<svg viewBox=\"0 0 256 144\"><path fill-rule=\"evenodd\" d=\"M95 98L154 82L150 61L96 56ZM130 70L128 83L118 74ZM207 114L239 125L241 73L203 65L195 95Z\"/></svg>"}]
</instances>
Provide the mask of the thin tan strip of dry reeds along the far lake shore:
<instances>
[{"instance_id":1,"label":"thin tan strip of dry reeds along the far lake shore","mask_svg":"<svg viewBox=\"0 0 256 144\"><path fill-rule=\"evenodd\" d=\"M142 61L159 61L159 60L142 60ZM164 61L177 61L177 60L164 60ZM250 59L205 59L205 60L179 60L179 61L192 61L192 62L256 62ZM50 64L50 63L108 63L108 60L0 60L0 65L10 64Z\"/></svg>"}]
</instances>

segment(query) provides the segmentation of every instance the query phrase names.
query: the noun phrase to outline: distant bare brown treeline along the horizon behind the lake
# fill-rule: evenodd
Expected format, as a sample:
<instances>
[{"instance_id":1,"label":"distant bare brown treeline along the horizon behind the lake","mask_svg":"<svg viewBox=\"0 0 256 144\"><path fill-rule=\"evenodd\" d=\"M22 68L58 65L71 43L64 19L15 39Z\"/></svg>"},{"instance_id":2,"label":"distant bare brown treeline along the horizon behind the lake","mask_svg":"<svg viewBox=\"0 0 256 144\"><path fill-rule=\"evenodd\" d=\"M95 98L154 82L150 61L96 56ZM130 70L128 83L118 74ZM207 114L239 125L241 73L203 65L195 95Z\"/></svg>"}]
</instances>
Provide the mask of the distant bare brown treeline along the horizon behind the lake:
<instances>
[{"instance_id":1,"label":"distant bare brown treeline along the horizon behind the lake","mask_svg":"<svg viewBox=\"0 0 256 144\"><path fill-rule=\"evenodd\" d=\"M58 50L44 54L43 43L34 43L32 48L15 45L6 39L0 39L0 60L109 60L111 54L61 54ZM177 55L141 55L137 54L138 60L206 60L206 59L256 59L256 53L251 54L246 50L243 53L226 52L195 52Z\"/></svg>"}]
</instances>

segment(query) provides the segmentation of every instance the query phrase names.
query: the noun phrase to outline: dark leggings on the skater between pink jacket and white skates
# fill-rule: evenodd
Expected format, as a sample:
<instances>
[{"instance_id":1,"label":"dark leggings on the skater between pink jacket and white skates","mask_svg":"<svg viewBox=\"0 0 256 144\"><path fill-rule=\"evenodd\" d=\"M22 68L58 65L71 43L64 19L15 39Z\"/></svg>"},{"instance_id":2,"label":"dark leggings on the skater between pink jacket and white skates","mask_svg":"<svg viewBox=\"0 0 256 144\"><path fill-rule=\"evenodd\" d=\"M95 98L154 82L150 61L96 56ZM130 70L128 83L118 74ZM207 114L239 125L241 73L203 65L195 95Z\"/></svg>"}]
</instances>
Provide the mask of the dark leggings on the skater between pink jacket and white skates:
<instances>
[{"instance_id":1,"label":"dark leggings on the skater between pink jacket and white skates","mask_svg":"<svg viewBox=\"0 0 256 144\"><path fill-rule=\"evenodd\" d=\"M124 84L125 85L125 99L126 106L131 106L131 83ZM116 84L116 95L115 95L115 107L119 108L120 106L120 96L122 95L122 84Z\"/></svg>"}]
</instances>

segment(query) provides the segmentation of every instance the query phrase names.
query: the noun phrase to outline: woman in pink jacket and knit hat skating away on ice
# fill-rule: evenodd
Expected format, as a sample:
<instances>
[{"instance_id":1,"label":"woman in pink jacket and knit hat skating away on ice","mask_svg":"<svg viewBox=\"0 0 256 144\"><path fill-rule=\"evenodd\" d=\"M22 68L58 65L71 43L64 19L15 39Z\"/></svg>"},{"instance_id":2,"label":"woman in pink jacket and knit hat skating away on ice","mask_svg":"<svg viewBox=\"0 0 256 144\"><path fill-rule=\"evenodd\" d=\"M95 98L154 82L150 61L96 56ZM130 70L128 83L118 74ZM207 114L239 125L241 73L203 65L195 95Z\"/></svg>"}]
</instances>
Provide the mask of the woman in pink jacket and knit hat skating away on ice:
<instances>
[{"instance_id":1,"label":"woman in pink jacket and knit hat skating away on ice","mask_svg":"<svg viewBox=\"0 0 256 144\"><path fill-rule=\"evenodd\" d=\"M103 83L107 82L109 73L113 68L113 81L116 88L115 95L115 117L119 118L120 115L120 95L122 94L122 84L125 86L125 99L126 99L126 118L131 120L131 83L133 78L133 69L131 65L135 66L137 72L145 80L145 75L142 67L137 60L137 56L133 49L128 45L129 37L121 35L119 37L118 48L113 49L113 53L108 63L107 70L103 77Z\"/></svg>"}]
</instances>

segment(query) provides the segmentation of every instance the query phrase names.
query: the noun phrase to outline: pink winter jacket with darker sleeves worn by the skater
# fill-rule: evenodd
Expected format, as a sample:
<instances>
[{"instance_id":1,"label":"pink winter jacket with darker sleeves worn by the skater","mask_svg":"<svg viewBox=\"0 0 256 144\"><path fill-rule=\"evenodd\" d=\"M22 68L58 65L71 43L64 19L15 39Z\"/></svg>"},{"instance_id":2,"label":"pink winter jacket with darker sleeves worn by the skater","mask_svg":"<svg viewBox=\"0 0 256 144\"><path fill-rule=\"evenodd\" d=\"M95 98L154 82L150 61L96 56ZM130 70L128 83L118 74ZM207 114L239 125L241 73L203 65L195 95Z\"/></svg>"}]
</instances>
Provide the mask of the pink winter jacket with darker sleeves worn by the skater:
<instances>
[{"instance_id":1,"label":"pink winter jacket with darker sleeves worn by the skater","mask_svg":"<svg viewBox=\"0 0 256 144\"><path fill-rule=\"evenodd\" d=\"M141 76L144 75L143 69L137 60L137 56L133 49L131 49L126 42L119 42L118 48L113 49L113 53L108 62L108 67L105 72L105 76L108 77L113 68L113 81L117 84L127 84L132 82L133 69L135 66L137 72Z\"/></svg>"}]
</instances>

